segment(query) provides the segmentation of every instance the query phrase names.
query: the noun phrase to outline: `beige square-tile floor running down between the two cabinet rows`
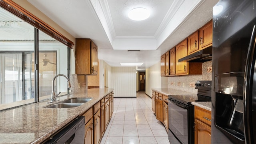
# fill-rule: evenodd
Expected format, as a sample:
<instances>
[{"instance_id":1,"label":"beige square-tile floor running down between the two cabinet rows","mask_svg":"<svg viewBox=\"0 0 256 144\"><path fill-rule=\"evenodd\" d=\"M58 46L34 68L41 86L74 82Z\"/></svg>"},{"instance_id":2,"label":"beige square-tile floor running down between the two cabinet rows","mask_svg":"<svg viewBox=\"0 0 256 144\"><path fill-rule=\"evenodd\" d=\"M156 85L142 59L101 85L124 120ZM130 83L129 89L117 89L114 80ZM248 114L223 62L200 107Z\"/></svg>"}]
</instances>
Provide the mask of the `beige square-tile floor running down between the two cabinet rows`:
<instances>
[{"instance_id":1,"label":"beige square-tile floor running down between the two cabinet rows","mask_svg":"<svg viewBox=\"0 0 256 144\"><path fill-rule=\"evenodd\" d=\"M170 144L144 91L137 98L114 98L114 113L100 144Z\"/></svg>"}]
</instances>

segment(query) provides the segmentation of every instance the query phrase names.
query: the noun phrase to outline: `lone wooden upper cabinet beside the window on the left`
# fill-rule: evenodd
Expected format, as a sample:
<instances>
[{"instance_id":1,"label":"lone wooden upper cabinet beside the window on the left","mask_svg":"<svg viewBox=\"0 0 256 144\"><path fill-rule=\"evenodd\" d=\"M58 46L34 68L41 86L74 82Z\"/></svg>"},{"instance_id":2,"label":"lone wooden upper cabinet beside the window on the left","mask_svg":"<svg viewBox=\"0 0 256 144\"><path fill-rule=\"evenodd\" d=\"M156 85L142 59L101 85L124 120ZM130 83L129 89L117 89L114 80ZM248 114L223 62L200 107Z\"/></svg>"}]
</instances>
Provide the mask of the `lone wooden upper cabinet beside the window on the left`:
<instances>
[{"instance_id":1,"label":"lone wooden upper cabinet beside the window on the left","mask_svg":"<svg viewBox=\"0 0 256 144\"><path fill-rule=\"evenodd\" d=\"M76 74L98 74L98 48L89 38L76 38Z\"/></svg>"}]
</instances>

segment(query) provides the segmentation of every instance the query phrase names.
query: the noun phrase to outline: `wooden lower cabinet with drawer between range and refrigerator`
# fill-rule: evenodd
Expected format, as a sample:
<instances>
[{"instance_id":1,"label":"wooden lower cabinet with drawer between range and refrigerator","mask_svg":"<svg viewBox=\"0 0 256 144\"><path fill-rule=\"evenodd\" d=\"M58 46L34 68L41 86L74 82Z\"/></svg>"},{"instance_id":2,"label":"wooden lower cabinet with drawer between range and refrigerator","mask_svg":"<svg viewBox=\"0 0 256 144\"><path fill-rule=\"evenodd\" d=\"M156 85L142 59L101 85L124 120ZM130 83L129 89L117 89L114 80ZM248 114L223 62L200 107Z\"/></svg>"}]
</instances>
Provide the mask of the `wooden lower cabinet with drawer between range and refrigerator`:
<instances>
[{"instance_id":1,"label":"wooden lower cabinet with drawer between range and refrigerator","mask_svg":"<svg viewBox=\"0 0 256 144\"><path fill-rule=\"evenodd\" d=\"M195 144L211 144L211 112L195 106Z\"/></svg>"}]
</instances>

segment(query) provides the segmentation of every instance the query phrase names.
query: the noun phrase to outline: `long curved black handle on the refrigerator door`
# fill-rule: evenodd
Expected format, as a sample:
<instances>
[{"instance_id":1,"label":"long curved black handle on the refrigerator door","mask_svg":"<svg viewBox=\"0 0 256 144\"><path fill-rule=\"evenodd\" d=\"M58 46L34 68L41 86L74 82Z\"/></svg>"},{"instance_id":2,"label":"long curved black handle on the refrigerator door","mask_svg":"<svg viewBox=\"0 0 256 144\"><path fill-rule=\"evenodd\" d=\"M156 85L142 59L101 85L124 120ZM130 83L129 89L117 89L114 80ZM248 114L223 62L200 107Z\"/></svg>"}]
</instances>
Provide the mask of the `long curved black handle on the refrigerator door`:
<instances>
[{"instance_id":1,"label":"long curved black handle on the refrigerator door","mask_svg":"<svg viewBox=\"0 0 256 144\"><path fill-rule=\"evenodd\" d=\"M256 43L256 26L252 30L252 36L249 43L246 67L244 72L244 135L246 144L254 144L252 133L252 85L255 64L255 43Z\"/></svg>"}]
</instances>

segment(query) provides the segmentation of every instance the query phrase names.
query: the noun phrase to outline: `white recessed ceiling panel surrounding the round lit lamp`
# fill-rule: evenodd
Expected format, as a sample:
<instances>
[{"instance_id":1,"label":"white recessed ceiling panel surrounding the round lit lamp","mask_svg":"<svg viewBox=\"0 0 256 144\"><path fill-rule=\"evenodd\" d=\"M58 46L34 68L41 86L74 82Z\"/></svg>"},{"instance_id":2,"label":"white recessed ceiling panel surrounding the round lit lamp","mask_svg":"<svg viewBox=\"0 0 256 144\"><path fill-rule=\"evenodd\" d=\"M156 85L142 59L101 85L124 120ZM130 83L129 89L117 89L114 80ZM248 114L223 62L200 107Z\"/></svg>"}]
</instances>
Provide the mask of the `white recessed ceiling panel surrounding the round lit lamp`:
<instances>
[{"instance_id":1,"label":"white recessed ceiling panel surrounding the round lit lamp","mask_svg":"<svg viewBox=\"0 0 256 144\"><path fill-rule=\"evenodd\" d=\"M154 36L173 0L108 0L116 36ZM135 21L128 18L134 8L146 8L150 17Z\"/></svg>"}]
</instances>

